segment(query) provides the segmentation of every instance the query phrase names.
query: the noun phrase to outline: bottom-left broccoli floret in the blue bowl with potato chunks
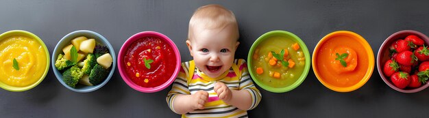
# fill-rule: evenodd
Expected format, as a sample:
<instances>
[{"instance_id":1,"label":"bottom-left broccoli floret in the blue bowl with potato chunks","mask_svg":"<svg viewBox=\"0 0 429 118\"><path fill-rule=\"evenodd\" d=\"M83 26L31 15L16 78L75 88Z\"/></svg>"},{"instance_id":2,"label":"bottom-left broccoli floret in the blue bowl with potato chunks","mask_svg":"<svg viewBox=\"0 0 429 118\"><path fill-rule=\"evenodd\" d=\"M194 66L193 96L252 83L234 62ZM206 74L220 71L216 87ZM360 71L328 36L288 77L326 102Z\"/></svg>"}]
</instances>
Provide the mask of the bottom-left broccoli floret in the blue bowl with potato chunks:
<instances>
[{"instance_id":1,"label":"bottom-left broccoli floret in the blue bowl with potato chunks","mask_svg":"<svg viewBox=\"0 0 429 118\"><path fill-rule=\"evenodd\" d=\"M83 75L84 73L80 70L80 68L77 68L77 66L72 66L62 73L62 80L64 83L74 88L76 87L77 82L79 82L79 78L81 78Z\"/></svg>"}]
</instances>

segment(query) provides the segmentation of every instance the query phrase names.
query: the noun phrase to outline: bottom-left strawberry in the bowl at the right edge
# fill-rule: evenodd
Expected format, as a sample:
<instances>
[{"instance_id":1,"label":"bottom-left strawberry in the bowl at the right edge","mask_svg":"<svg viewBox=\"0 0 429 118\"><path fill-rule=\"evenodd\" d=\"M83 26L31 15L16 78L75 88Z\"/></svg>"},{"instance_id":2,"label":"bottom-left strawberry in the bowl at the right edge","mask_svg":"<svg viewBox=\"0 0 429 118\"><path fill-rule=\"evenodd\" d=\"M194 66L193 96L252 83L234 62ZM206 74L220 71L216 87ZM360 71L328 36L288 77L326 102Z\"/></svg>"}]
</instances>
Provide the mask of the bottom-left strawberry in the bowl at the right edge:
<instances>
[{"instance_id":1,"label":"bottom-left strawberry in the bowl at the right edge","mask_svg":"<svg viewBox=\"0 0 429 118\"><path fill-rule=\"evenodd\" d=\"M400 89L404 89L408 84L410 84L410 75L406 72L395 72L390 79L393 85Z\"/></svg>"}]
</instances>

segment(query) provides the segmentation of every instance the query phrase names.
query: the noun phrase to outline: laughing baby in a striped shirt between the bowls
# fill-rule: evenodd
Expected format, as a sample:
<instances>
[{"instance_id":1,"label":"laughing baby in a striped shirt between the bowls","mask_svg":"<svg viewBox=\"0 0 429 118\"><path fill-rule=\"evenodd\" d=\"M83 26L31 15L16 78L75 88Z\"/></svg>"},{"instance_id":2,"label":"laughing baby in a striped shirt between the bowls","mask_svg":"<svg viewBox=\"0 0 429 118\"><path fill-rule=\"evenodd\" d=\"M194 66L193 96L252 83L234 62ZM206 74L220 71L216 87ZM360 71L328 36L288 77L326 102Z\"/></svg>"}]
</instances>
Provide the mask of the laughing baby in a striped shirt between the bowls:
<instances>
[{"instance_id":1,"label":"laughing baby in a striped shirt between the bowls","mask_svg":"<svg viewBox=\"0 0 429 118\"><path fill-rule=\"evenodd\" d=\"M221 5L198 8L189 21L186 45L193 61L182 63L167 104L182 117L247 117L262 96L238 47L234 13Z\"/></svg>"}]
</instances>

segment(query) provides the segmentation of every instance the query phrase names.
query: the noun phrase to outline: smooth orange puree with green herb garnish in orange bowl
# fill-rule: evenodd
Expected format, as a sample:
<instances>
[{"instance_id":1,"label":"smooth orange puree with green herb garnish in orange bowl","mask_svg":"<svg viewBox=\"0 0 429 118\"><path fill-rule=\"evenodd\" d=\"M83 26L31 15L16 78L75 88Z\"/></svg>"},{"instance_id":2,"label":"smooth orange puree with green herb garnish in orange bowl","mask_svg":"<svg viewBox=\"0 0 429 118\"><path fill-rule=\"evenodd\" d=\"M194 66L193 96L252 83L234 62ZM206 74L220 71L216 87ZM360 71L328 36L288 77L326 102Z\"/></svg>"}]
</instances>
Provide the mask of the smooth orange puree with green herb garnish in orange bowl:
<instances>
[{"instance_id":1,"label":"smooth orange puree with green herb garnish in orange bowl","mask_svg":"<svg viewBox=\"0 0 429 118\"><path fill-rule=\"evenodd\" d=\"M339 55L348 53L344 59L347 66L335 60ZM358 83L366 74L369 54L361 42L345 35L334 36L324 42L317 53L316 68L326 83L337 87L350 87ZM371 54L372 55L372 54Z\"/></svg>"}]
</instances>

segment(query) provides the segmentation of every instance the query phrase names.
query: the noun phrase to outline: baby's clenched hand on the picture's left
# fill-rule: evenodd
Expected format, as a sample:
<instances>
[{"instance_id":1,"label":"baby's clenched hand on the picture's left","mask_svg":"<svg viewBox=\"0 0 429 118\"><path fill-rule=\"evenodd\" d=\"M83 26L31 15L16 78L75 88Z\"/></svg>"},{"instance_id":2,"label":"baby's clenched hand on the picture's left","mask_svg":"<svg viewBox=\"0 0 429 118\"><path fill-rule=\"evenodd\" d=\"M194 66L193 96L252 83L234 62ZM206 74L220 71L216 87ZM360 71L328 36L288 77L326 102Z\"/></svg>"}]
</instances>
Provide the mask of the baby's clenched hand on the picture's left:
<instances>
[{"instance_id":1,"label":"baby's clenched hand on the picture's left","mask_svg":"<svg viewBox=\"0 0 429 118\"><path fill-rule=\"evenodd\" d=\"M206 91L197 91L197 93L191 95L191 108L195 109L204 109L204 104L208 100L208 93Z\"/></svg>"}]
</instances>

